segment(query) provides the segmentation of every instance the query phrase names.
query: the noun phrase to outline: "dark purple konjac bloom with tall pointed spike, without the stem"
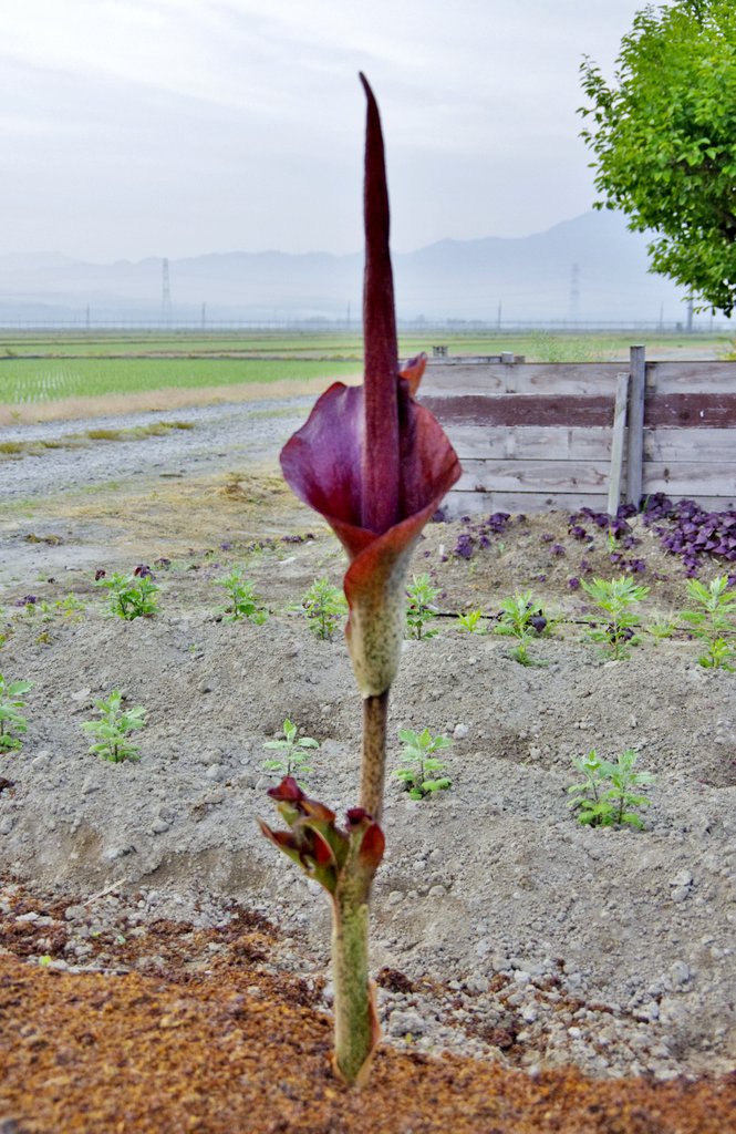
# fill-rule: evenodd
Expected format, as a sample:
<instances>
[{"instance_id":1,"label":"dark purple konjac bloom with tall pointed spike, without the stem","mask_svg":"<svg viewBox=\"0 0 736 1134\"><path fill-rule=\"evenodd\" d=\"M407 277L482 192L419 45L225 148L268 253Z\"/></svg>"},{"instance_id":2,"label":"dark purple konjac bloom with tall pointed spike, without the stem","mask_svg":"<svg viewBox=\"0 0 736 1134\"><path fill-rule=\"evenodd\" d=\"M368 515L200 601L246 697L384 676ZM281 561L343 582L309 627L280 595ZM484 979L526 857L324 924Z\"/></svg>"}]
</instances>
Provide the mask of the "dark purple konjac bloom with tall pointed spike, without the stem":
<instances>
[{"instance_id":1,"label":"dark purple konjac bloom with tall pointed spike, without the stem","mask_svg":"<svg viewBox=\"0 0 736 1134\"><path fill-rule=\"evenodd\" d=\"M425 358L399 370L383 139L361 78L369 101L364 384L336 382L322 395L284 448L281 468L347 552L348 649L363 696L378 696L398 669L408 560L460 466L437 420L414 400Z\"/></svg>"}]
</instances>

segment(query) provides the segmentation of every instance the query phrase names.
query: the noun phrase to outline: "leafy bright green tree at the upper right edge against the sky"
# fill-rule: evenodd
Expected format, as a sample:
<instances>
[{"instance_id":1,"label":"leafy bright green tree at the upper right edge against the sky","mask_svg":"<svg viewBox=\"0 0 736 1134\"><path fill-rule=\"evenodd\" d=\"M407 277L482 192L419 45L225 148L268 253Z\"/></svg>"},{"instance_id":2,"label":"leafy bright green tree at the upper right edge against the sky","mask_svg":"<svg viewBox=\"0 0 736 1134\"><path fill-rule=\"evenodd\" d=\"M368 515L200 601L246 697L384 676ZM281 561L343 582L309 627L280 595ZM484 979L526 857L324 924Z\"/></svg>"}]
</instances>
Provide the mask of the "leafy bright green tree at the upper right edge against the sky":
<instances>
[{"instance_id":1,"label":"leafy bright green tree at the upper right edge against the sky","mask_svg":"<svg viewBox=\"0 0 736 1134\"><path fill-rule=\"evenodd\" d=\"M610 85L586 58L597 209L620 209L651 231L652 271L701 310L736 304L736 3L648 6L624 36Z\"/></svg>"}]
</instances>

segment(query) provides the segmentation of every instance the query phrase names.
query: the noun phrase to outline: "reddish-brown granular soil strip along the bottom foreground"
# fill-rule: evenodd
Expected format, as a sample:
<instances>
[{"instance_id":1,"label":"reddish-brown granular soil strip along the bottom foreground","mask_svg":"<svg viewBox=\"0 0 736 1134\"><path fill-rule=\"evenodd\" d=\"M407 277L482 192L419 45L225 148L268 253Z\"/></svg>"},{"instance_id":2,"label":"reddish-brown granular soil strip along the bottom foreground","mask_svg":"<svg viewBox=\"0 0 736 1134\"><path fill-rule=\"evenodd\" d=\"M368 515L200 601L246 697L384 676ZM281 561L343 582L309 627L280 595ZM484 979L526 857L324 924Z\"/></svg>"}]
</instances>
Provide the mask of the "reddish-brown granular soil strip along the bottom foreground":
<instances>
[{"instance_id":1,"label":"reddish-brown granular soil strip along the bottom foreground","mask_svg":"<svg viewBox=\"0 0 736 1134\"><path fill-rule=\"evenodd\" d=\"M736 1123L736 1076L530 1077L388 1047L356 1093L332 1075L331 1024L311 1006L314 990L269 963L278 941L268 922L244 911L225 929L161 920L103 971L24 962L39 928L18 915L57 923L64 905L22 892L15 931L3 925L8 1134L726 1134Z\"/></svg>"}]
</instances>

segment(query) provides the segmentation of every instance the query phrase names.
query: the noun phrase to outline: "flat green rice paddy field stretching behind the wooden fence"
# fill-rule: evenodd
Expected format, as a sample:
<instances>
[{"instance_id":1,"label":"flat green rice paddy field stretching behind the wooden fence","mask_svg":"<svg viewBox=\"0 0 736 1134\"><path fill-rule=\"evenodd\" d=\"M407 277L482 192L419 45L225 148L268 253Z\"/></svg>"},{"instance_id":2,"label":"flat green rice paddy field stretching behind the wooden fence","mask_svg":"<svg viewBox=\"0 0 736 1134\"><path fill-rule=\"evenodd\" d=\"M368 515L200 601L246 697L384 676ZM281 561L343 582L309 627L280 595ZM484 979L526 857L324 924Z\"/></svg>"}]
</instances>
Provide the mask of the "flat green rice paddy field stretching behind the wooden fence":
<instances>
[{"instance_id":1,"label":"flat green rice paddy field stretching behind the wooden fence","mask_svg":"<svg viewBox=\"0 0 736 1134\"><path fill-rule=\"evenodd\" d=\"M401 336L399 346L404 357L442 345L451 355L514 352L528 361L593 362L625 357L633 341L632 332L463 335L428 329ZM733 348L725 335L648 336L645 342L650 357L658 350L719 357ZM0 405L6 407L155 390L327 382L358 375L361 369L357 332L0 331Z\"/></svg>"}]
</instances>

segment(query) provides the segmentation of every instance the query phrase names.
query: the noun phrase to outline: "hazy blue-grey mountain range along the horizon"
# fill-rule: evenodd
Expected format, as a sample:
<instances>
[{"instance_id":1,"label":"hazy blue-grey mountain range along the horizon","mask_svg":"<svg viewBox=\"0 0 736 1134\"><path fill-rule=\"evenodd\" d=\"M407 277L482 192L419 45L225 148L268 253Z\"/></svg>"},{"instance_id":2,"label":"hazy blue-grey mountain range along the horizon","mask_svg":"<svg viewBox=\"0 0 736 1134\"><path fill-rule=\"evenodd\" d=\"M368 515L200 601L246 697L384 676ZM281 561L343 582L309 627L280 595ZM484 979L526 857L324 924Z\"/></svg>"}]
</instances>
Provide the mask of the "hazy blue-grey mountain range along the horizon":
<instances>
[{"instance_id":1,"label":"hazy blue-grey mountain range along the horizon","mask_svg":"<svg viewBox=\"0 0 736 1134\"><path fill-rule=\"evenodd\" d=\"M684 297L648 272L646 238L612 212L589 212L533 236L440 240L395 254L401 320L581 322L685 318ZM356 323L363 255L232 252L169 261L172 321ZM0 255L0 322L158 321L163 261L112 264L56 253ZM204 310L203 310L203 305ZM500 305L500 311L499 311Z\"/></svg>"}]
</instances>

